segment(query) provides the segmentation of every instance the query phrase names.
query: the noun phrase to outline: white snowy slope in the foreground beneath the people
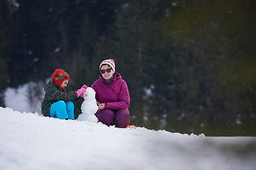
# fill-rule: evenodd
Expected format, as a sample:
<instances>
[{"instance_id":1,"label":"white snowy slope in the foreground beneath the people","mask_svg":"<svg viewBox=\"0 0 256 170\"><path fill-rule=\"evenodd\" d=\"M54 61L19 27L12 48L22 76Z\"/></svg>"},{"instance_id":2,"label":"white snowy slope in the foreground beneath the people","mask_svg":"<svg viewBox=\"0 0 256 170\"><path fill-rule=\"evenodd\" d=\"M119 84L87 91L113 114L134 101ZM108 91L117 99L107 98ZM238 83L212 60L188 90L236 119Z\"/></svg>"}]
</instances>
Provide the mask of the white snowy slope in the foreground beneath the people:
<instances>
[{"instance_id":1,"label":"white snowy slope in the foreground beneath the people","mask_svg":"<svg viewBox=\"0 0 256 170\"><path fill-rule=\"evenodd\" d=\"M0 169L256 169L256 137L205 137L0 108Z\"/></svg>"}]
</instances>

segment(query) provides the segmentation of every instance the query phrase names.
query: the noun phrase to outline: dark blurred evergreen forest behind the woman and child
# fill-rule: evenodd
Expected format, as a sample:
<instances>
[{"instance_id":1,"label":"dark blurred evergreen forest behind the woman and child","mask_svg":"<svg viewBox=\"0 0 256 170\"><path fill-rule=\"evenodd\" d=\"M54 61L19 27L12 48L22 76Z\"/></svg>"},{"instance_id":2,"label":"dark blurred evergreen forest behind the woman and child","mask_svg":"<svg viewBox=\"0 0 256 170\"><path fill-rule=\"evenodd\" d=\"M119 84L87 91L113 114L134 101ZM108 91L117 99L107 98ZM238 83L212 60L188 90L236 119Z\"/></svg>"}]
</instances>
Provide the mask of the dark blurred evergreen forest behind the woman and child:
<instances>
[{"instance_id":1,"label":"dark blurred evergreen forest behind the woman and child","mask_svg":"<svg viewBox=\"0 0 256 170\"><path fill-rule=\"evenodd\" d=\"M255 7L254 0L1 0L0 104L7 87L46 83L57 68L70 74L68 91L90 86L100 62L112 58L129 87L131 124L256 136ZM38 86L31 102L42 96Z\"/></svg>"}]
</instances>

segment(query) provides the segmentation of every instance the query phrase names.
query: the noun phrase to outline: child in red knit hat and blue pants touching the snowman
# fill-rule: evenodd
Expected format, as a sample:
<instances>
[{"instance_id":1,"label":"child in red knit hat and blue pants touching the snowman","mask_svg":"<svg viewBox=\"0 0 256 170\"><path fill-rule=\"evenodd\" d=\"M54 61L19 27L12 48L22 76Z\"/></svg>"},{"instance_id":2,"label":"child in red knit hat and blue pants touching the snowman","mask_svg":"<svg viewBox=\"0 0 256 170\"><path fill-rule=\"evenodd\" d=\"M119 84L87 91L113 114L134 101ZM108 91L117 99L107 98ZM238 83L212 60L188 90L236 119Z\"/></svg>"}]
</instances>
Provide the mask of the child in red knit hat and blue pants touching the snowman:
<instances>
[{"instance_id":1,"label":"child in red knit hat and blue pants touching the snowman","mask_svg":"<svg viewBox=\"0 0 256 170\"><path fill-rule=\"evenodd\" d=\"M63 69L56 69L52 74L52 80L46 84L46 91L41 105L42 114L52 118L74 119L74 103L79 101L87 86L83 85L78 91L66 93L70 77Z\"/></svg>"}]
</instances>

